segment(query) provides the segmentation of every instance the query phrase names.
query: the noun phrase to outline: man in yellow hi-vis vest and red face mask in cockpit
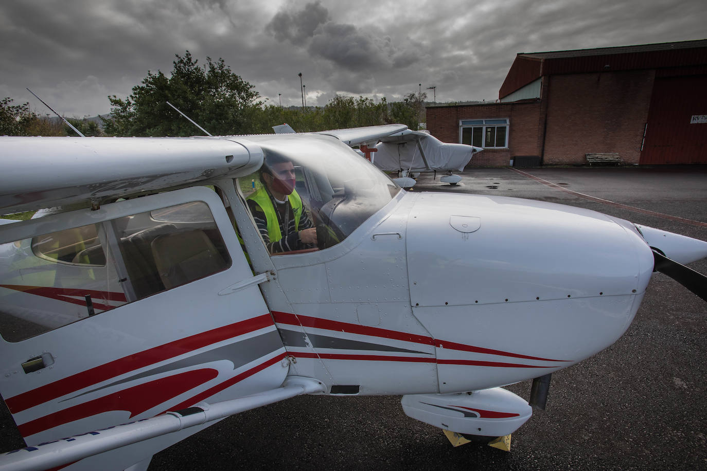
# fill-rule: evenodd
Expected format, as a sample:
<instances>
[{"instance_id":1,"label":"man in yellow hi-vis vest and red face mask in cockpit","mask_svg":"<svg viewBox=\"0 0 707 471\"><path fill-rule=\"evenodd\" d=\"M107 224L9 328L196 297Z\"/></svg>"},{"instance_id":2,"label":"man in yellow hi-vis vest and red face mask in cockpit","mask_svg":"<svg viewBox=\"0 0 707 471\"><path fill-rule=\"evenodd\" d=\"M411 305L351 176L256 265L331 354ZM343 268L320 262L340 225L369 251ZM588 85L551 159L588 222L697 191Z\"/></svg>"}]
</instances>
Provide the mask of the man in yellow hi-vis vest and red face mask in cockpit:
<instances>
[{"instance_id":1,"label":"man in yellow hi-vis vest and red face mask in cockpit","mask_svg":"<svg viewBox=\"0 0 707 471\"><path fill-rule=\"evenodd\" d=\"M295 190L295 167L288 157L265 150L262 188L247 197L248 208L270 254L317 246L317 229Z\"/></svg>"}]
</instances>

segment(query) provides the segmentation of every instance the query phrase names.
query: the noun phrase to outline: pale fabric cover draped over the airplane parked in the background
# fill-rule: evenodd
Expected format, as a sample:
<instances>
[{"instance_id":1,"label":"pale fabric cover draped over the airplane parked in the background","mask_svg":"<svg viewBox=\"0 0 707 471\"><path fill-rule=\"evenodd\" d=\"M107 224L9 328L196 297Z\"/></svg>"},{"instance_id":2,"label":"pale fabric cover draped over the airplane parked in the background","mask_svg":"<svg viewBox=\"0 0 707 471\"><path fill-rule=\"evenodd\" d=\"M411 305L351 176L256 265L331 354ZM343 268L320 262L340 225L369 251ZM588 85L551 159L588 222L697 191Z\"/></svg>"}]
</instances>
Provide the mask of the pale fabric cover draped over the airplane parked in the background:
<instances>
[{"instance_id":1,"label":"pale fabric cover draped over the airplane parked in the background","mask_svg":"<svg viewBox=\"0 0 707 471\"><path fill-rule=\"evenodd\" d=\"M422 158L418 140L428 165ZM373 154L373 163L386 172L400 169L462 172L474 153L483 150L472 145L443 143L431 134L409 130L382 139L375 148L378 151Z\"/></svg>"}]
</instances>

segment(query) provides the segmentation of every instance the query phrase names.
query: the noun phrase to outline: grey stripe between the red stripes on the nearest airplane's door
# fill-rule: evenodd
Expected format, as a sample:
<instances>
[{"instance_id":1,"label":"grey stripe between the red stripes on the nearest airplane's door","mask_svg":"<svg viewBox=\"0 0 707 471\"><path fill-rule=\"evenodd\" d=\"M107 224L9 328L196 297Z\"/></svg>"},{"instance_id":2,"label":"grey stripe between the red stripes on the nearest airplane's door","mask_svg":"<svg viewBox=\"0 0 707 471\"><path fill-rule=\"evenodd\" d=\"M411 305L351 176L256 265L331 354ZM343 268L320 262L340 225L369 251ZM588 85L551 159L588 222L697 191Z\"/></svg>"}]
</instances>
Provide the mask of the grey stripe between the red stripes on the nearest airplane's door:
<instances>
[{"instance_id":1,"label":"grey stripe between the red stripes on the nearest airplane's door","mask_svg":"<svg viewBox=\"0 0 707 471\"><path fill-rule=\"evenodd\" d=\"M93 393L97 390L110 388L110 386L115 386L117 384L127 383L129 381L134 381L136 379L146 378L147 376L153 376L156 374L165 373L166 371L174 371L177 369L187 368L189 366L194 366L197 364L205 364L211 362L218 362L219 360L228 360L233 363L233 369L236 369L244 364L248 364L255 359L264 357L265 355L272 353L276 350L282 348L282 341L276 330L271 332L258 335L257 337L247 338L245 340L240 340L240 342L230 343L228 345L223 345L223 347L214 348L214 350L209 350L208 352L199 353L193 357L187 357L185 359L177 360L158 368L154 368L148 371L144 371L139 374L130 376L129 378L124 378L119 381L107 384L106 386L101 386L100 388L95 388L85 393L81 393L73 396L72 398L67 398L64 400L69 400L73 398L78 398L84 394ZM59 402L64 402L64 400Z\"/></svg>"}]
</instances>

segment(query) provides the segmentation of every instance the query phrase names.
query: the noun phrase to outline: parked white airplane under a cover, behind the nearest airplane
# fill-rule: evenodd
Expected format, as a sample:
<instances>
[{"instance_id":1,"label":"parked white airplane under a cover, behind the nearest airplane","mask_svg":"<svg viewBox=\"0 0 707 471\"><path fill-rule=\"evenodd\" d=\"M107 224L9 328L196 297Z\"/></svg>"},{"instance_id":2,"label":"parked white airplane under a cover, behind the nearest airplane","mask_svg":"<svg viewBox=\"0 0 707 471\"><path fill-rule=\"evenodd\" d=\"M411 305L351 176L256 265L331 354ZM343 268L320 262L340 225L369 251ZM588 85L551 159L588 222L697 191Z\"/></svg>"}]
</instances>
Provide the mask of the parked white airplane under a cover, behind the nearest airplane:
<instances>
[{"instance_id":1,"label":"parked white airplane under a cover, behind the nearest airplane","mask_svg":"<svg viewBox=\"0 0 707 471\"><path fill-rule=\"evenodd\" d=\"M296 132L289 124L273 126L272 129L277 134ZM337 136L342 131L347 130L336 129L320 133ZM414 186L414 178L421 173L437 172L444 173L440 177L442 183L456 185L462 177L452 172L463 172L472 157L484 150L473 145L443 143L429 131L411 129L404 129L373 141L357 142L354 145L359 146L356 149L359 155L366 157L382 171L397 172L399 178L395 181L404 188Z\"/></svg>"}]
</instances>

